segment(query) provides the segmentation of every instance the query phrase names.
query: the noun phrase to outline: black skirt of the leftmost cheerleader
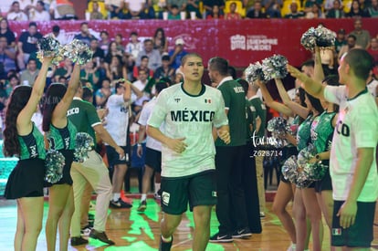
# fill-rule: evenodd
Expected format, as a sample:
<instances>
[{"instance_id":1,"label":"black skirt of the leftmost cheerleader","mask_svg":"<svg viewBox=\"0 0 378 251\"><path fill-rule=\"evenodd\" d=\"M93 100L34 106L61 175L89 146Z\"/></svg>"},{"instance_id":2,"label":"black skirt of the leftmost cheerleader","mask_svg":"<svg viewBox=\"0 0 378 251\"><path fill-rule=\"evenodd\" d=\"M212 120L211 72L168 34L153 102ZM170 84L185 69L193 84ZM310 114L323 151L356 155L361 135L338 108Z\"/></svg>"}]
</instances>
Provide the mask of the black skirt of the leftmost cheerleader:
<instances>
[{"instance_id":1,"label":"black skirt of the leftmost cheerleader","mask_svg":"<svg viewBox=\"0 0 378 251\"><path fill-rule=\"evenodd\" d=\"M4 196L8 200L41 197L43 196L44 180L45 160L20 160L9 174Z\"/></svg>"}]
</instances>

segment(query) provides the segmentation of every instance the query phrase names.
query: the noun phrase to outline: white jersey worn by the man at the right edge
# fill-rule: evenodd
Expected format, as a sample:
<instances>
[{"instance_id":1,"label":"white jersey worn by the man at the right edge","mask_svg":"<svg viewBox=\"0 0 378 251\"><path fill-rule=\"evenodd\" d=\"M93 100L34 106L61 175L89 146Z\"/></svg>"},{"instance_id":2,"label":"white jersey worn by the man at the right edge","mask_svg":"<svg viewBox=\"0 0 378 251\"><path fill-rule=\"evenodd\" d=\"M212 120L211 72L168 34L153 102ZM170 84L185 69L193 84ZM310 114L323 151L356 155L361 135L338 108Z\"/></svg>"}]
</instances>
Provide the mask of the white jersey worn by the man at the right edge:
<instances>
[{"instance_id":1,"label":"white jersey worn by the man at the right edge","mask_svg":"<svg viewBox=\"0 0 378 251\"><path fill-rule=\"evenodd\" d=\"M373 148L373 163L357 201L375 202L378 198L378 176L375 148L378 141L378 110L367 89L347 99L346 87L326 87L324 97L340 105L333 132L330 173L333 199L345 201L351 189L357 164L357 149Z\"/></svg>"}]
</instances>

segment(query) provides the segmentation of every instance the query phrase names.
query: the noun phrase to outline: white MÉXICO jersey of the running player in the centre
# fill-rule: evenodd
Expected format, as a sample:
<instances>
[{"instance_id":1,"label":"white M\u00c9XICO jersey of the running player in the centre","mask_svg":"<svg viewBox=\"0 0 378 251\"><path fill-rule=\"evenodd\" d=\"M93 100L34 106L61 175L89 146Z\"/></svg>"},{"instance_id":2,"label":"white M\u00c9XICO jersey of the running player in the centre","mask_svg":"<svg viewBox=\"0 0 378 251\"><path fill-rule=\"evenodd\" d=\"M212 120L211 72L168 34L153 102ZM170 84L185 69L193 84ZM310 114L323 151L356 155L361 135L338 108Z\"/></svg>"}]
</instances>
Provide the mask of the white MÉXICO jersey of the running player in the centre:
<instances>
[{"instance_id":1,"label":"white M\u00c9XICO jersey of the running player in the centre","mask_svg":"<svg viewBox=\"0 0 378 251\"><path fill-rule=\"evenodd\" d=\"M225 101L218 89L204 85L197 96L185 92L183 84L163 89L147 123L159 128L163 122L166 136L185 138L187 145L184 152L177 153L163 144L163 177L184 177L215 169L213 126L228 124Z\"/></svg>"}]
</instances>

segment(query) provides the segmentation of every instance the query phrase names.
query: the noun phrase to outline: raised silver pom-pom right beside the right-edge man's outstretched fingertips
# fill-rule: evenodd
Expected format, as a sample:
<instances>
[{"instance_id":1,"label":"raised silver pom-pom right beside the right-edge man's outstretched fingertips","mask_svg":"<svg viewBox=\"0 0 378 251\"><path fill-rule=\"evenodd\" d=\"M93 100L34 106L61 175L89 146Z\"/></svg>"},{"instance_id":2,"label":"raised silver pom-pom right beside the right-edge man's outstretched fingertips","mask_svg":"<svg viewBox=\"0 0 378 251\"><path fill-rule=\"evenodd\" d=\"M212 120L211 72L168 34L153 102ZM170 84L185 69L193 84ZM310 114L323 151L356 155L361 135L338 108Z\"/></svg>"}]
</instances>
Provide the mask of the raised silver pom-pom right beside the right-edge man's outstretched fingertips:
<instances>
[{"instance_id":1,"label":"raised silver pom-pom right beside the right-edge man's outstretched fingertips","mask_svg":"<svg viewBox=\"0 0 378 251\"><path fill-rule=\"evenodd\" d=\"M288 58L282 55L273 55L262 61L262 70L264 78L268 81L273 78L285 78L288 75Z\"/></svg>"}]
</instances>

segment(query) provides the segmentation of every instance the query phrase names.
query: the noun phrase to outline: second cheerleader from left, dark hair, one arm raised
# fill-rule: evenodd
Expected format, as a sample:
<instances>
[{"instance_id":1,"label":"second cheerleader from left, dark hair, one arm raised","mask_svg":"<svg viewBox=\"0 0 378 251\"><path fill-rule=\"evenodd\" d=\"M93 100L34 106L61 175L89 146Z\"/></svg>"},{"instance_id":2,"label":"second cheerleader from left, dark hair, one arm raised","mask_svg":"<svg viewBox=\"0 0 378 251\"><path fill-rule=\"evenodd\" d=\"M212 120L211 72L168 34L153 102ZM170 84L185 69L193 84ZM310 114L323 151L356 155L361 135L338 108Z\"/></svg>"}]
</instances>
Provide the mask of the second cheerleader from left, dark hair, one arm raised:
<instances>
[{"instance_id":1,"label":"second cheerleader from left, dark hair, one arm raised","mask_svg":"<svg viewBox=\"0 0 378 251\"><path fill-rule=\"evenodd\" d=\"M63 176L57 183L49 183L48 216L46 222L47 250L55 250L59 227L59 250L68 250L69 226L74 212L71 163L74 157L76 127L67 119L67 110L79 88L80 67L73 69L68 88L62 84L48 87L43 112L42 129L49 149L65 157Z\"/></svg>"}]
</instances>

